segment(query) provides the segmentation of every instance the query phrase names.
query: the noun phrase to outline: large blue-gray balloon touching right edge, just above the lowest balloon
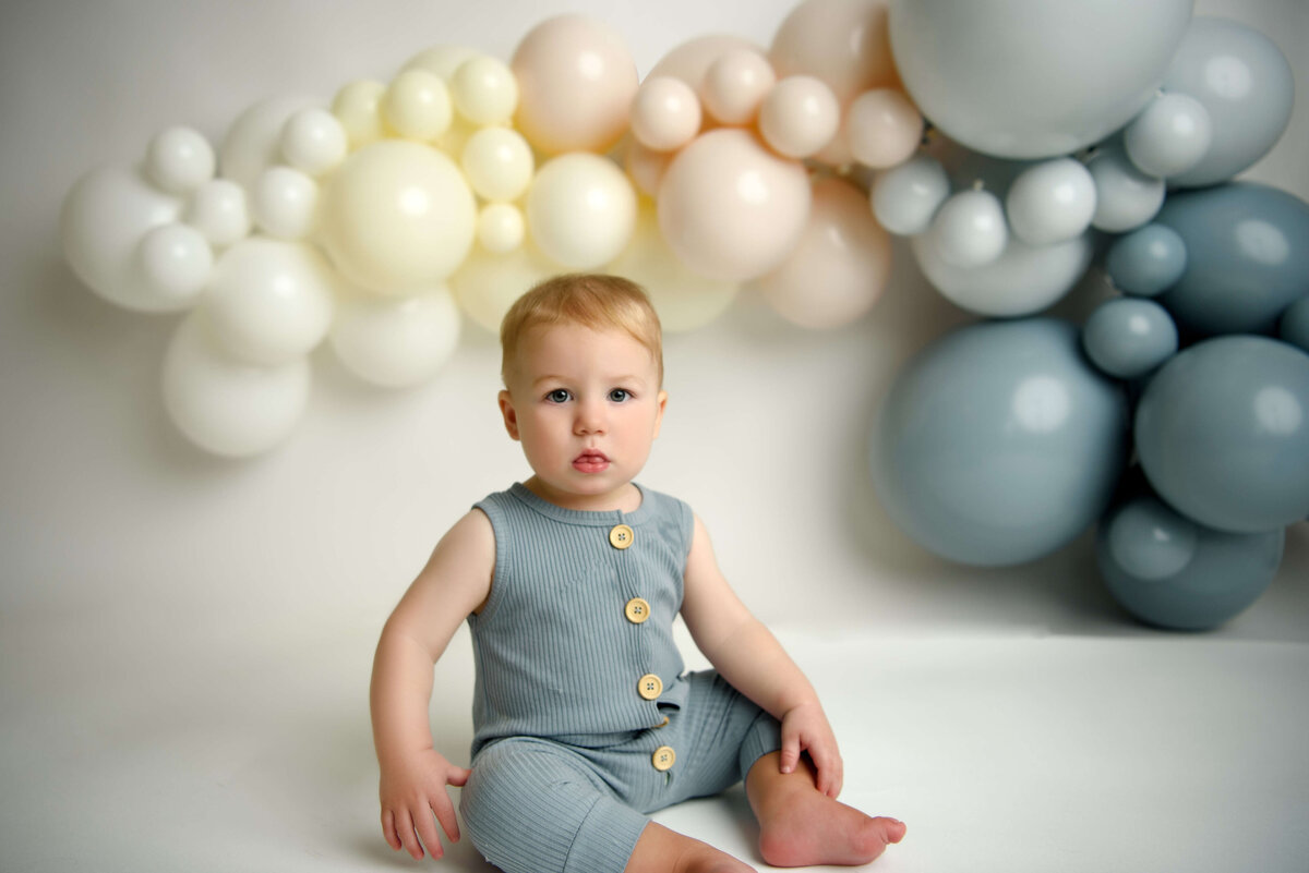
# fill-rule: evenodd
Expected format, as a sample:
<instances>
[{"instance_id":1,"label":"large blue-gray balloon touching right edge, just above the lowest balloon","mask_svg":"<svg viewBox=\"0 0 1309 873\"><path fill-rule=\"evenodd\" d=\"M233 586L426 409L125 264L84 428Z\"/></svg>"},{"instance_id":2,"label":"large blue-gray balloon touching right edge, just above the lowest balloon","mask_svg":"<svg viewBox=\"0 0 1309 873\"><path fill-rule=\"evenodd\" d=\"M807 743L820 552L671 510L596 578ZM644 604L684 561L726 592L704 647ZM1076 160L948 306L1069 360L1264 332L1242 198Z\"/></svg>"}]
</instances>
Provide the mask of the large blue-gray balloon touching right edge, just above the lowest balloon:
<instances>
[{"instance_id":1,"label":"large blue-gray balloon touching right edge, just above the lowest balloon","mask_svg":"<svg viewBox=\"0 0 1309 873\"><path fill-rule=\"evenodd\" d=\"M1174 355L1136 406L1136 452L1173 508L1258 533L1309 515L1309 355L1257 336Z\"/></svg>"}]
</instances>

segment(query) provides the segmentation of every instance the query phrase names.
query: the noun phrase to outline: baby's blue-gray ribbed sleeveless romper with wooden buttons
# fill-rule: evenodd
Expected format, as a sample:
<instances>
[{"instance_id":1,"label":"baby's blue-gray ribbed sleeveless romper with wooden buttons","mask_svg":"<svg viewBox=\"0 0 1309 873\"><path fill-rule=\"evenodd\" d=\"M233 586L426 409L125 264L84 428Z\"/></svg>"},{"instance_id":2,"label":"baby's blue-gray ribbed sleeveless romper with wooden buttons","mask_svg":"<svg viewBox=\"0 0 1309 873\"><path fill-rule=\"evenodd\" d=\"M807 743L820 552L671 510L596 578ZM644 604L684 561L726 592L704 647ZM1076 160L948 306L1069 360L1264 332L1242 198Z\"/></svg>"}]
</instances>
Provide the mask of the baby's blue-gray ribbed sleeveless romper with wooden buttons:
<instances>
[{"instance_id":1,"label":"baby's blue-gray ribbed sleeveless romper with wooden buttons","mask_svg":"<svg viewBox=\"0 0 1309 873\"><path fill-rule=\"evenodd\" d=\"M469 617L459 812L507 873L620 873L647 813L724 791L781 746L778 721L721 677L685 673L673 619L694 519L640 491L635 512L565 510L521 484L476 504L496 563Z\"/></svg>"}]
</instances>

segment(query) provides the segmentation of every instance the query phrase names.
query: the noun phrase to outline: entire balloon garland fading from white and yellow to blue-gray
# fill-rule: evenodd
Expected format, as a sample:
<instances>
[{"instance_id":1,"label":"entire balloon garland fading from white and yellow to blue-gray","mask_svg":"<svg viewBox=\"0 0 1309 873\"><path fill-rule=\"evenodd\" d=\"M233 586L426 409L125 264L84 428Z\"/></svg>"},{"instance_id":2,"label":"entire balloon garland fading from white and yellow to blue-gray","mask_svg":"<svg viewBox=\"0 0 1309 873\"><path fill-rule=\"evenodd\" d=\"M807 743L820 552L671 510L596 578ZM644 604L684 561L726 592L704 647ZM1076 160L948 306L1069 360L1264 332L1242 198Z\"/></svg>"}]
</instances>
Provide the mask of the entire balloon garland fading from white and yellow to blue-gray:
<instances>
[{"instance_id":1,"label":"entire balloon garland fading from white and yellow to blue-gray","mask_svg":"<svg viewBox=\"0 0 1309 873\"><path fill-rule=\"evenodd\" d=\"M942 295L1004 320L897 376L870 451L895 521L1003 566L1100 519L1130 612L1212 627L1309 515L1309 205L1230 182L1291 106L1276 46L1191 0L804 0L770 47L692 39L644 81L619 34L559 16L508 63L437 46L329 105L263 101L217 149L162 131L73 186L62 238L105 299L186 312L165 404L232 457L292 433L325 341L420 384L463 318L493 331L590 269L670 331L742 288L833 328L908 238ZM1038 315L1093 264L1117 294L1085 325Z\"/></svg>"}]
</instances>

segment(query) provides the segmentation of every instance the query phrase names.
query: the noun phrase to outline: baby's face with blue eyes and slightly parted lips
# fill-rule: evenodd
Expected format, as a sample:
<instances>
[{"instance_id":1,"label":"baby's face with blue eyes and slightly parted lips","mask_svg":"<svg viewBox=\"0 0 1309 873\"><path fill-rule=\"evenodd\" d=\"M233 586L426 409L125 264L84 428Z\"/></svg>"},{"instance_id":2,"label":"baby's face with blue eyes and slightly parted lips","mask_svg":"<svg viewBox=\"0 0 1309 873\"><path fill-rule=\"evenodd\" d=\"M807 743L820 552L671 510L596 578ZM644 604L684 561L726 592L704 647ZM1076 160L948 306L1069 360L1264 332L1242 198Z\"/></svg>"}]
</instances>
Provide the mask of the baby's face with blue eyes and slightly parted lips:
<instances>
[{"instance_id":1,"label":"baby's face with blue eyes and slightly parted lips","mask_svg":"<svg viewBox=\"0 0 1309 873\"><path fill-rule=\"evenodd\" d=\"M668 400L649 350L623 331L537 327L521 338L507 382L505 429L543 495L615 508L649 457Z\"/></svg>"}]
</instances>

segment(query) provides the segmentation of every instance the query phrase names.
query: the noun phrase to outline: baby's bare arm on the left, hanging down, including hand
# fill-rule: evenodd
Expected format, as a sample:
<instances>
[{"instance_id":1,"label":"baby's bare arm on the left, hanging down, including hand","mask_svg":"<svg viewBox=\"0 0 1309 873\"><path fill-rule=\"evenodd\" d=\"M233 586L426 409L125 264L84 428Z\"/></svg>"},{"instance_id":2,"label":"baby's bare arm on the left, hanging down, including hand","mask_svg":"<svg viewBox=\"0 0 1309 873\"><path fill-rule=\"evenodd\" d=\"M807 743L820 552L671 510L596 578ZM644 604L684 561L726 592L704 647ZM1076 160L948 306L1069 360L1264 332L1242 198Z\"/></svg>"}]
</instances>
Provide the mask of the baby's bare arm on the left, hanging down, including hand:
<instances>
[{"instance_id":1,"label":"baby's bare arm on the left, hanging down, including hand","mask_svg":"<svg viewBox=\"0 0 1309 873\"><path fill-rule=\"evenodd\" d=\"M441 857L437 821L446 836L459 839L445 787L462 785L471 771L432 746L432 665L469 613L482 609L493 572L495 532L490 519L473 510L436 544L377 643L369 697L382 771L382 834L391 848L403 847L415 859L423 857L423 844Z\"/></svg>"}]
</instances>

